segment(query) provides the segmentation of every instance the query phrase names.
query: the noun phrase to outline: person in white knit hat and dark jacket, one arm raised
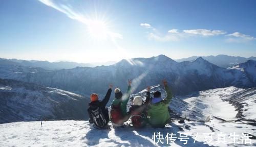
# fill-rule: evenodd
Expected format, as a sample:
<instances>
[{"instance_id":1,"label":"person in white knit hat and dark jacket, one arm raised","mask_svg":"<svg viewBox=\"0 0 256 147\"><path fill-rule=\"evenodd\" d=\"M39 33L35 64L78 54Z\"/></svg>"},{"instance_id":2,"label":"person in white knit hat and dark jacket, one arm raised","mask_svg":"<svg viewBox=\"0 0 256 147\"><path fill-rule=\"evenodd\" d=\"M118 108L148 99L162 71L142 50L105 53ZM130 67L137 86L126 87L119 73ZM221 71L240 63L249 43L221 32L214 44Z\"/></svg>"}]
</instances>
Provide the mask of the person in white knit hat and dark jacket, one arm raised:
<instances>
[{"instance_id":1,"label":"person in white knit hat and dark jacket, one arm raised","mask_svg":"<svg viewBox=\"0 0 256 147\"><path fill-rule=\"evenodd\" d=\"M150 102L150 87L147 87L146 101L141 96L135 96L130 108L131 120L134 128L143 128L147 124L147 105Z\"/></svg>"}]
</instances>

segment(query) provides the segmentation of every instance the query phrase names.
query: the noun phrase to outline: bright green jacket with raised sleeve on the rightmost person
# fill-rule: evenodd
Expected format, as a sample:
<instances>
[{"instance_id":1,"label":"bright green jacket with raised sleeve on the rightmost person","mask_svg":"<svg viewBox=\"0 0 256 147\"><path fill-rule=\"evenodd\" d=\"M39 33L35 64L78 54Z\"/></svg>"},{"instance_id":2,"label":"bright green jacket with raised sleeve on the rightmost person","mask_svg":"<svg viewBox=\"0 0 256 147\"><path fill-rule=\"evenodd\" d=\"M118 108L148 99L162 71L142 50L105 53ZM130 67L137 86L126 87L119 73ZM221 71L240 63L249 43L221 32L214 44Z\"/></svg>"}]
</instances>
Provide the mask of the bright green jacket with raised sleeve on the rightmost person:
<instances>
[{"instance_id":1,"label":"bright green jacket with raised sleeve on the rightmost person","mask_svg":"<svg viewBox=\"0 0 256 147\"><path fill-rule=\"evenodd\" d=\"M147 116L152 127L164 127L170 119L168 106L173 94L168 86L165 86L165 90L167 97L164 100L156 104L149 104L148 106Z\"/></svg>"}]
</instances>

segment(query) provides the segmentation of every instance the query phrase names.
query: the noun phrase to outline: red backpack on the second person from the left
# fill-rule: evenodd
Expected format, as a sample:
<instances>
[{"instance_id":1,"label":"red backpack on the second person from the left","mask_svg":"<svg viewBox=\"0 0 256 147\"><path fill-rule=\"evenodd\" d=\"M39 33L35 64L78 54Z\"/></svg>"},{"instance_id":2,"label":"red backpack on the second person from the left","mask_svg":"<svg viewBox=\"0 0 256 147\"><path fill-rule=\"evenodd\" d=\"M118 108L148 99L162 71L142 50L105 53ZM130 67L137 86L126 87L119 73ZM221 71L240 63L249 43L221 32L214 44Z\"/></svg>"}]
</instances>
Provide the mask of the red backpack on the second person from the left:
<instances>
[{"instance_id":1,"label":"red backpack on the second person from the left","mask_svg":"<svg viewBox=\"0 0 256 147\"><path fill-rule=\"evenodd\" d=\"M111 121L115 124L119 124L120 120L123 119L121 103L118 105L111 106Z\"/></svg>"}]
</instances>

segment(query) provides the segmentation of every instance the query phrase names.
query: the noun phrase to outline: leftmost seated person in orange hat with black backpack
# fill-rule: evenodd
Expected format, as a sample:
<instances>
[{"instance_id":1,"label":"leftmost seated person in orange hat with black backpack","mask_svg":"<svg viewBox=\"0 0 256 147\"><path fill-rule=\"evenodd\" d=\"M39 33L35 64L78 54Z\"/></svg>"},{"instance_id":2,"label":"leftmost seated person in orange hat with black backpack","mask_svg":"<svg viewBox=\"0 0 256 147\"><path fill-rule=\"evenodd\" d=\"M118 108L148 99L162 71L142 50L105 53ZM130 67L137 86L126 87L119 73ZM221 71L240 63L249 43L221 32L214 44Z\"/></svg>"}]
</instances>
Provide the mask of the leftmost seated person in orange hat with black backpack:
<instances>
[{"instance_id":1,"label":"leftmost seated person in orange hat with black backpack","mask_svg":"<svg viewBox=\"0 0 256 147\"><path fill-rule=\"evenodd\" d=\"M112 92L113 85L109 85L109 90L106 92L106 95L102 101L99 101L98 94L91 94L91 103L89 104L88 113L89 113L89 122L94 124L97 128L101 129L108 125L109 123L109 110L105 108L106 104L110 100L110 95Z\"/></svg>"}]
</instances>

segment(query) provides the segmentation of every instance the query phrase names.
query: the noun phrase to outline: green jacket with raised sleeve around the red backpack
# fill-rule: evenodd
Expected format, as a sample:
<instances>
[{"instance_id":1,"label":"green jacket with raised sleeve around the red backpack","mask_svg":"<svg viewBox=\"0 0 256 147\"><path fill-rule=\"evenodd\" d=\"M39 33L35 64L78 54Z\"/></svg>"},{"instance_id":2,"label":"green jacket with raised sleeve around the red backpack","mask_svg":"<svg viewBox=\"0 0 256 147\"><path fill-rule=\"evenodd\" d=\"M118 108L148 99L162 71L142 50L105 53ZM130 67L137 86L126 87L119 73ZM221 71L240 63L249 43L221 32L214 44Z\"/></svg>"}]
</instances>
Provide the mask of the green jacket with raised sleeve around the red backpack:
<instances>
[{"instance_id":1,"label":"green jacket with raised sleeve around the red backpack","mask_svg":"<svg viewBox=\"0 0 256 147\"><path fill-rule=\"evenodd\" d=\"M122 96L122 99L115 99L113 102L112 102L112 105L111 106L115 106L115 105L118 105L119 103L120 104L120 107L121 107L121 110L122 110L122 115L123 116L126 116L127 115L127 103L129 101L129 98L130 98L130 94L131 94L131 86L128 86L127 88L127 93L124 93L123 96Z\"/></svg>"}]
</instances>

